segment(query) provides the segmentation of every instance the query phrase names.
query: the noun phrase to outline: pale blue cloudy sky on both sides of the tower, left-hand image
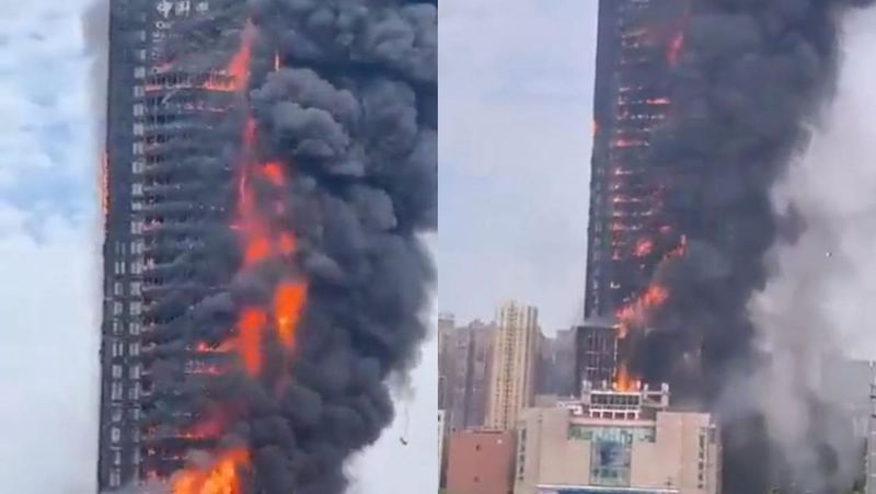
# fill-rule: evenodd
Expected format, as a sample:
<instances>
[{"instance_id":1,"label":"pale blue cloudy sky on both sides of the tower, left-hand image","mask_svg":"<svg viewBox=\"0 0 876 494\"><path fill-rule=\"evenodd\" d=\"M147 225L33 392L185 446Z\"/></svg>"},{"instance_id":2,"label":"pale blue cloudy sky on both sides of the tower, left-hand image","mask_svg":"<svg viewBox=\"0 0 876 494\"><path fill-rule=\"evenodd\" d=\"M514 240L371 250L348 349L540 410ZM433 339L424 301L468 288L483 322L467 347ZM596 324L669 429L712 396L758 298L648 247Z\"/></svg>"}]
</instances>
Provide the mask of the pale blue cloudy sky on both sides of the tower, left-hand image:
<instances>
[{"instance_id":1,"label":"pale blue cloudy sky on both sides of the tower, left-hand image","mask_svg":"<svg viewBox=\"0 0 876 494\"><path fill-rule=\"evenodd\" d=\"M89 2L0 4L4 493L90 494L95 489L99 197L90 55L81 31ZM428 344L414 371L408 426L401 414L353 467L358 481L351 493L437 490L435 353ZM407 447L399 441L405 429Z\"/></svg>"}]
</instances>

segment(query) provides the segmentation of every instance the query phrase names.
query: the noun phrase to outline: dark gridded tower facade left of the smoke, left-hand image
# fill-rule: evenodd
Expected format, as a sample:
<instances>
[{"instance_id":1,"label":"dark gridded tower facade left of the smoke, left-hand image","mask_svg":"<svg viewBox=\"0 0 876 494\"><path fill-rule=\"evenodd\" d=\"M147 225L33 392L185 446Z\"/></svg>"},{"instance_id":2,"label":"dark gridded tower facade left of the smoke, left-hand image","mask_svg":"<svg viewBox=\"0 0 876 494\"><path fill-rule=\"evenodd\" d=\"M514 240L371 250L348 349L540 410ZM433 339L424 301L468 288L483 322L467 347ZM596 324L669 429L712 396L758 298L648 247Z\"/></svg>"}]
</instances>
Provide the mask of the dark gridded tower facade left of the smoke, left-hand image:
<instances>
[{"instance_id":1,"label":"dark gridded tower facade left of the smoke, left-hand image","mask_svg":"<svg viewBox=\"0 0 876 494\"><path fill-rule=\"evenodd\" d=\"M185 45L175 23L207 19L208 0L110 2L101 492L169 476L198 441L181 432L191 417L169 407L174 397L162 382L198 374L212 356L184 344L155 349L173 321L224 283L200 255L228 230L232 171L216 140L235 104L234 76L171 66L166 49ZM222 26L222 36L238 36L243 22ZM184 289L171 283L180 279L189 282Z\"/></svg>"}]
</instances>

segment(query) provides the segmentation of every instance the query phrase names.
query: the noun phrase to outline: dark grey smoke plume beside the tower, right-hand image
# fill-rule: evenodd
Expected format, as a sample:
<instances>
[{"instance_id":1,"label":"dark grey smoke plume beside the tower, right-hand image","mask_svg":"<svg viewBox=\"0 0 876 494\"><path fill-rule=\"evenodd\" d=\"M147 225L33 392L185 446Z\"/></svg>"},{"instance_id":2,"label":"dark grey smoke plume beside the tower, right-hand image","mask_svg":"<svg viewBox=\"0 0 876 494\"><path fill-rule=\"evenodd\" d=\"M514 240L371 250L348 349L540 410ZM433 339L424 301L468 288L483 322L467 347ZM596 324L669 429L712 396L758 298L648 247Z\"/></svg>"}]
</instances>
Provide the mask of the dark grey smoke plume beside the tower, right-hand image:
<instances>
[{"instance_id":1,"label":"dark grey smoke plume beside the tower, right-hand image","mask_svg":"<svg viewBox=\"0 0 876 494\"><path fill-rule=\"evenodd\" d=\"M834 92L843 14L872 3L691 2L684 49L671 76L673 115L654 142L654 165L672 176L666 214L689 249L656 273L655 282L671 295L653 314L653 329L638 336L632 363L647 380L672 382L682 401L705 403L719 415L727 402L746 409L758 400L757 383L731 382L779 358L756 349L748 303L770 275L768 250L793 241L804 226L793 214L773 210L771 191L805 149ZM803 402L811 417L806 444L815 445L808 472L772 444L757 406L725 414L724 492L794 484L800 492L833 493L848 486L826 436L838 428L835 415L815 395Z\"/></svg>"}]
</instances>

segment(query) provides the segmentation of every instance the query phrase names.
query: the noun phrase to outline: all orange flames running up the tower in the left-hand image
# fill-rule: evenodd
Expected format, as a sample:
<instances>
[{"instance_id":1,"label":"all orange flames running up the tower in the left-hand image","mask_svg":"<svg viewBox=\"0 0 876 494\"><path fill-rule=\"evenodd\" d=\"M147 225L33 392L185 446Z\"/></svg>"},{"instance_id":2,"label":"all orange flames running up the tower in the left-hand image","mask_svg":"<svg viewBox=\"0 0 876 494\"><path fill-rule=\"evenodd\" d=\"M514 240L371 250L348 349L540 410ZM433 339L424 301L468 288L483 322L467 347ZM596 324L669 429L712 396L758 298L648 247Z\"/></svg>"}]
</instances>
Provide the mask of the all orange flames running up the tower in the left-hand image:
<instances>
[{"instance_id":1,"label":"all orange flames running up the tower in the left-hand image","mask_svg":"<svg viewBox=\"0 0 876 494\"><path fill-rule=\"evenodd\" d=\"M223 83L209 83L205 88L216 91L244 92L249 85L249 67L252 51L253 26L247 23L243 31L240 49L226 68L228 76ZM279 58L276 67L279 67ZM284 219L289 210L284 203L284 188L288 183L286 169L276 161L261 162L255 158L256 123L250 115L242 135L240 174L238 176L237 217L231 228L238 233L242 244L241 269L272 260L287 260L295 253L296 238L292 231L278 231L277 220ZM273 191L270 200L257 196L266 185ZM269 203L270 212L263 205ZM222 343L220 351L238 354L243 370L252 378L258 378L264 365L263 349L268 341L278 342L287 352L295 347L296 328L307 300L307 285L301 280L284 280L275 290L269 307L251 305L238 314L237 335ZM272 328L276 334L269 334ZM273 340L272 340L273 338ZM198 345L199 352L217 352L206 344ZM219 437L227 428L228 418L197 424L191 435L195 437ZM177 472L172 481L173 494L241 494L242 475L250 469L250 452L235 448L215 453L214 462L207 467L192 467Z\"/></svg>"}]
</instances>

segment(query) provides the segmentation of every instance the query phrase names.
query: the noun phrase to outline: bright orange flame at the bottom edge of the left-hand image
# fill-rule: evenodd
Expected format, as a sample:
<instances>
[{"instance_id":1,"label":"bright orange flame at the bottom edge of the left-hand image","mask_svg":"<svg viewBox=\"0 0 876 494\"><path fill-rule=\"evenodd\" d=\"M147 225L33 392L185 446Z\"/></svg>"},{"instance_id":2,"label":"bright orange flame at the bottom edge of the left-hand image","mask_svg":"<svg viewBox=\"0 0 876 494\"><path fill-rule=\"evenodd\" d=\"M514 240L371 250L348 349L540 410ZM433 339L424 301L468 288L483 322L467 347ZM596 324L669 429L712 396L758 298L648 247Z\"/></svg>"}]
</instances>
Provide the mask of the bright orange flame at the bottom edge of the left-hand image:
<instances>
[{"instance_id":1,"label":"bright orange flame at the bottom edge of the left-hand image","mask_svg":"<svg viewBox=\"0 0 876 494\"><path fill-rule=\"evenodd\" d=\"M208 469L185 470L173 480L173 494L243 494L241 473L250 468L245 449L224 452Z\"/></svg>"}]
</instances>

